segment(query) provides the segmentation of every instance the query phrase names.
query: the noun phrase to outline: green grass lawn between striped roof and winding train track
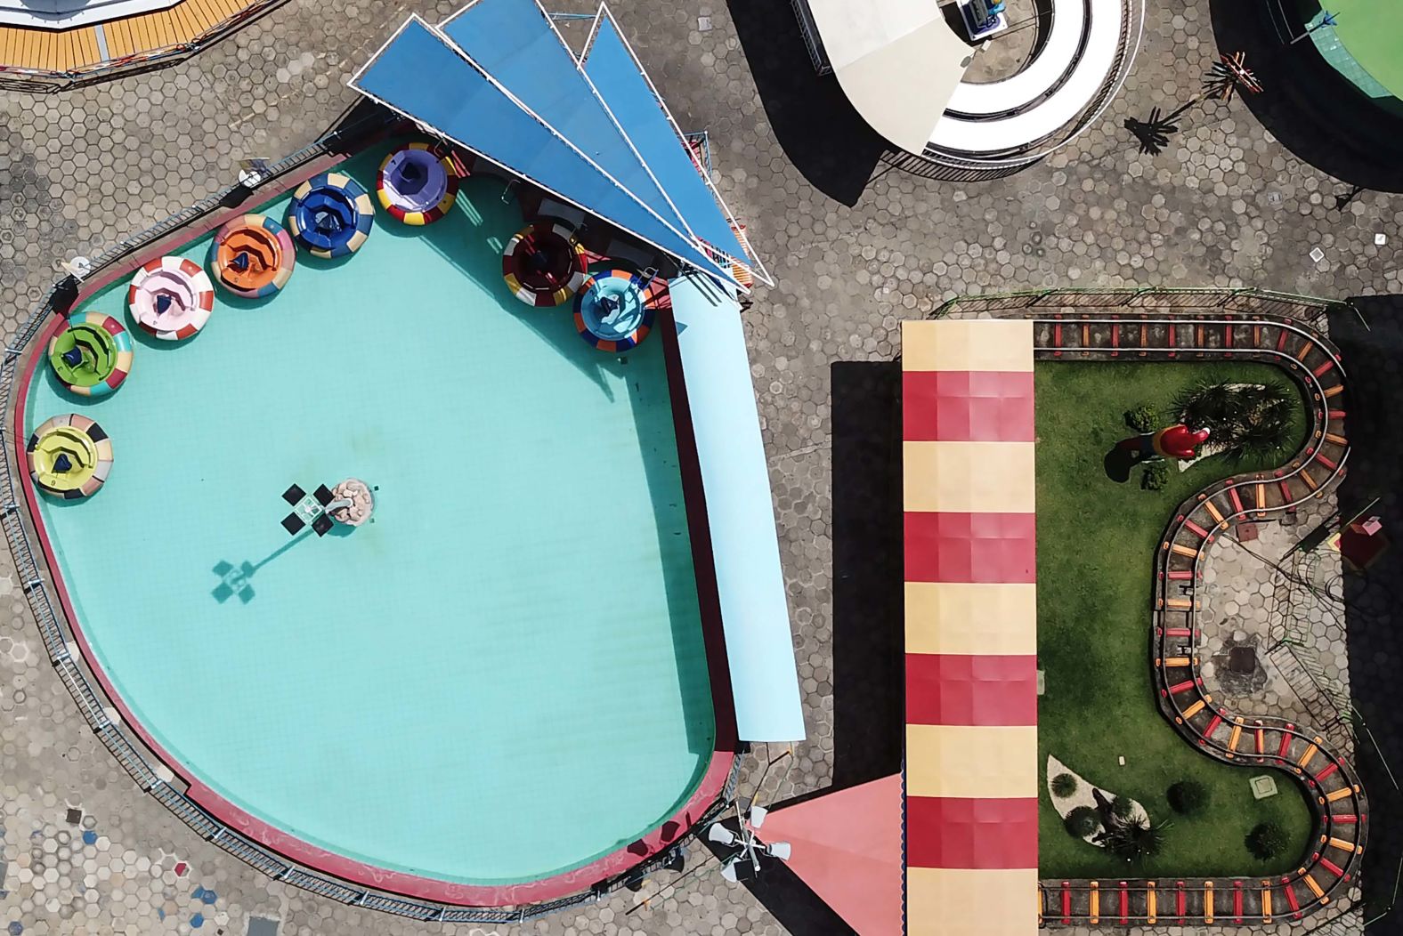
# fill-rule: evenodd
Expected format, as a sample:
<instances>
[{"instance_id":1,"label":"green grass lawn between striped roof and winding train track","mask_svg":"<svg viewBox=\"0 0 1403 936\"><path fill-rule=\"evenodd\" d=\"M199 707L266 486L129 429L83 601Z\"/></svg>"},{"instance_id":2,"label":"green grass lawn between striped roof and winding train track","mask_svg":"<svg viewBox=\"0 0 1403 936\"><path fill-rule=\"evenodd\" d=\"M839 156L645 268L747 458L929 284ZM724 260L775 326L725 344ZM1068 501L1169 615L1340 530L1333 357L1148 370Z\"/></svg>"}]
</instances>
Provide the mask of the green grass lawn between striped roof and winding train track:
<instances>
[{"instance_id":1,"label":"green grass lawn between striped roof and winding train track","mask_svg":"<svg viewBox=\"0 0 1403 936\"><path fill-rule=\"evenodd\" d=\"M1180 390L1202 378L1287 381L1275 367L1249 363L1040 363L1037 366L1038 699L1040 776L1052 754L1087 782L1139 800L1150 820L1172 818L1153 874L1282 873L1296 866L1310 832L1299 786L1277 773L1281 790L1254 800L1249 778L1190 747L1159 713L1150 689L1152 562L1176 506L1236 471L1221 457L1172 472L1163 490L1142 490L1141 471L1117 483L1103 458L1132 434L1124 413L1141 404L1170 412ZM1162 419L1163 422L1163 419ZM1303 411L1302 411L1303 423ZM1303 437L1303 426L1299 429ZM1264 465L1261 465L1264 467ZM1117 764L1125 757L1125 766ZM1197 817L1170 810L1164 790L1181 779L1211 790ZM1038 869L1044 877L1124 876L1124 860L1072 838L1041 785ZM1295 844L1271 862L1247 853L1243 837L1277 821Z\"/></svg>"}]
</instances>

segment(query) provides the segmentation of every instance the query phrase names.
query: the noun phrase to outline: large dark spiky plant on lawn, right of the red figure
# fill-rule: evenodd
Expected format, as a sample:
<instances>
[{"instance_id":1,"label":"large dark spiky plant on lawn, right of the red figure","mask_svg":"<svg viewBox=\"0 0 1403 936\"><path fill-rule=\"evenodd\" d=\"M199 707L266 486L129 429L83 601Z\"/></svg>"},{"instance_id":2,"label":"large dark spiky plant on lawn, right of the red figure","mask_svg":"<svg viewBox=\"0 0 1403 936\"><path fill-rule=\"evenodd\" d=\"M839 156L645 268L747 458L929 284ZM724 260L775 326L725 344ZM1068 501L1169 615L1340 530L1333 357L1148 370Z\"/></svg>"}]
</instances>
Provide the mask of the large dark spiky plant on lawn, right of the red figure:
<instances>
[{"instance_id":1,"label":"large dark spiky plant on lawn, right of the red figure","mask_svg":"<svg viewBox=\"0 0 1403 936\"><path fill-rule=\"evenodd\" d=\"M1291 388L1278 381L1202 381L1174 399L1174 415L1190 429L1209 430L1208 444L1239 462L1280 455L1291 441L1296 406Z\"/></svg>"}]
</instances>

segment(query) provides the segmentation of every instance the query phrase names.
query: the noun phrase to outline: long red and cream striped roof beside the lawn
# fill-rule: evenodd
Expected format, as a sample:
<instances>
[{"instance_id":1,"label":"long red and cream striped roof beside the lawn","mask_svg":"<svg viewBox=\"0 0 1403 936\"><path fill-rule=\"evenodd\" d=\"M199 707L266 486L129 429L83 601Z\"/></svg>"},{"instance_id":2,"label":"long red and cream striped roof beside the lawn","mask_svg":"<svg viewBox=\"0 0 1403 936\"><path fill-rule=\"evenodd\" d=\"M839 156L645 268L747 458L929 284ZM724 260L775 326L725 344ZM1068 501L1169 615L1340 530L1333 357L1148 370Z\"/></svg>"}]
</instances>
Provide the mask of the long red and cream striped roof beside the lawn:
<instances>
[{"instance_id":1,"label":"long red and cream striped roof beside the lawn","mask_svg":"<svg viewBox=\"0 0 1403 936\"><path fill-rule=\"evenodd\" d=\"M902 325L906 933L1037 930L1033 324Z\"/></svg>"}]
</instances>

